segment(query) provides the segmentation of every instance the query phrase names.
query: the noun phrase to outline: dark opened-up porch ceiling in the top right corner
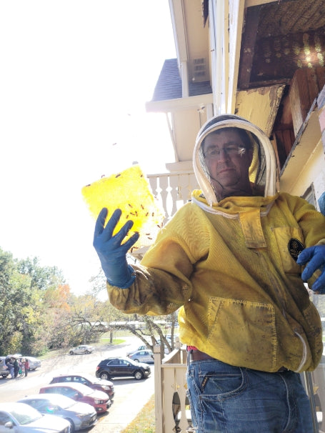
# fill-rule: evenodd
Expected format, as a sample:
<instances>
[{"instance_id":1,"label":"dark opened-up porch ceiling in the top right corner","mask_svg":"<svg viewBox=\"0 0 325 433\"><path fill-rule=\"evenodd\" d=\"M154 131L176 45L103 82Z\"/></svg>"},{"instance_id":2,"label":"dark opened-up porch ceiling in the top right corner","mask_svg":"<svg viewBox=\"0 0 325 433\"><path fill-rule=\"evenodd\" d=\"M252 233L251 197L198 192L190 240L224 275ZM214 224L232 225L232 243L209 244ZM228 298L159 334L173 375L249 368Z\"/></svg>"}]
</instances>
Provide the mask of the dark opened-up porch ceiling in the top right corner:
<instances>
[{"instance_id":1,"label":"dark opened-up porch ceiling in the top right corner","mask_svg":"<svg viewBox=\"0 0 325 433\"><path fill-rule=\"evenodd\" d=\"M296 69L324 66L324 8L325 0L282 0L247 7L237 88L289 84Z\"/></svg>"}]
</instances>

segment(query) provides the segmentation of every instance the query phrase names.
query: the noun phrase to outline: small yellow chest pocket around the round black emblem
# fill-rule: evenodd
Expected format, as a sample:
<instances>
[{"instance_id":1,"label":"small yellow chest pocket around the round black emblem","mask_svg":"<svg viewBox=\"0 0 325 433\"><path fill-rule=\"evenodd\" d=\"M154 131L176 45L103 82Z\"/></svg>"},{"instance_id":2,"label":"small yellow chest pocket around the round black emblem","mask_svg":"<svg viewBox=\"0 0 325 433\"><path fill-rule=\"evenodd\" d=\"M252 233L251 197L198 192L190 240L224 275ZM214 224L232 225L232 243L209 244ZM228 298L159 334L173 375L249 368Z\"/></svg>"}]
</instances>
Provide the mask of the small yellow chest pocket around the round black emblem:
<instances>
[{"instance_id":1,"label":"small yellow chest pocket around the round black emblem","mask_svg":"<svg viewBox=\"0 0 325 433\"><path fill-rule=\"evenodd\" d=\"M274 227L276 243L279 254L286 274L300 274L301 267L296 264L296 260L289 252L289 243L295 239L304 245L304 237L299 227Z\"/></svg>"}]
</instances>

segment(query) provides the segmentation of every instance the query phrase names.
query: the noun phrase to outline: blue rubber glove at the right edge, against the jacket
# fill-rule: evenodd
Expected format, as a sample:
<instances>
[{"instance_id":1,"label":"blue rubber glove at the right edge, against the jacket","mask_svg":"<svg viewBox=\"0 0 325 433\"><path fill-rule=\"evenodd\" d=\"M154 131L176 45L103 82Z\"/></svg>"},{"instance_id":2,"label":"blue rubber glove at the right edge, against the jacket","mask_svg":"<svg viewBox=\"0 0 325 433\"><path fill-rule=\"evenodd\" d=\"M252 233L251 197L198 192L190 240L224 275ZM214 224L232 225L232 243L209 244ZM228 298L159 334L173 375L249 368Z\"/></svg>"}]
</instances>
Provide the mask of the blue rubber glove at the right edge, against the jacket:
<instances>
[{"instance_id":1,"label":"blue rubber glove at the right edge, against the jacket","mask_svg":"<svg viewBox=\"0 0 325 433\"><path fill-rule=\"evenodd\" d=\"M308 281L317 269L321 269L321 275L316 279L311 289L318 294L325 294L325 245L303 249L298 256L297 263L300 265L307 263L301 274L304 282Z\"/></svg>"}]
</instances>

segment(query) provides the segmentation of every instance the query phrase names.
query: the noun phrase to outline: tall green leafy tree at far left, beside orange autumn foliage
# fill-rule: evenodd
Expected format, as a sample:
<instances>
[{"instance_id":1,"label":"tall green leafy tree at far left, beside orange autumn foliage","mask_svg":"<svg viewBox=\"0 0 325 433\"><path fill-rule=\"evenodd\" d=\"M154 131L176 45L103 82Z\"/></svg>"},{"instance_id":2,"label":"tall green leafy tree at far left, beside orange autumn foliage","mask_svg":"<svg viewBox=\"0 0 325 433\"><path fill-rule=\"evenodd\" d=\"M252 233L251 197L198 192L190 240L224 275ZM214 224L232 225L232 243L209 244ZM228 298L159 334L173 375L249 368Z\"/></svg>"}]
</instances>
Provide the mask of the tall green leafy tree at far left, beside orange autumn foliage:
<instances>
[{"instance_id":1,"label":"tall green leafy tree at far left, beside orange autumn foliage","mask_svg":"<svg viewBox=\"0 0 325 433\"><path fill-rule=\"evenodd\" d=\"M14 260L0 249L0 352L39 354L47 349L44 292L63 281L56 267L39 260Z\"/></svg>"}]
</instances>

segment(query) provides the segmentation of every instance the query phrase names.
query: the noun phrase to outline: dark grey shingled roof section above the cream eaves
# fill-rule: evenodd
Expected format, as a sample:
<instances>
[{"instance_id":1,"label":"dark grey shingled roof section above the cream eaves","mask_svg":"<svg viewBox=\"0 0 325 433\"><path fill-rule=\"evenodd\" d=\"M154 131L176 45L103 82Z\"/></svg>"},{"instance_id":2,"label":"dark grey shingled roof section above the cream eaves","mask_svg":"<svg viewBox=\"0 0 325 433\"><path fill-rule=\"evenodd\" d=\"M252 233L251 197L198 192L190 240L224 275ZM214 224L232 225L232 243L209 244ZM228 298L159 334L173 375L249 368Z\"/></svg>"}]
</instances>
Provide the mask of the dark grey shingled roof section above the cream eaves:
<instances>
[{"instance_id":1,"label":"dark grey shingled roof section above the cream eaves","mask_svg":"<svg viewBox=\"0 0 325 433\"><path fill-rule=\"evenodd\" d=\"M209 81L189 82L189 96L212 93ZM161 69L151 101L181 98L181 77L177 59L167 59Z\"/></svg>"}]
</instances>

